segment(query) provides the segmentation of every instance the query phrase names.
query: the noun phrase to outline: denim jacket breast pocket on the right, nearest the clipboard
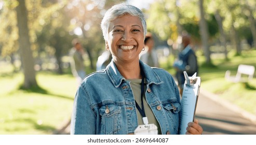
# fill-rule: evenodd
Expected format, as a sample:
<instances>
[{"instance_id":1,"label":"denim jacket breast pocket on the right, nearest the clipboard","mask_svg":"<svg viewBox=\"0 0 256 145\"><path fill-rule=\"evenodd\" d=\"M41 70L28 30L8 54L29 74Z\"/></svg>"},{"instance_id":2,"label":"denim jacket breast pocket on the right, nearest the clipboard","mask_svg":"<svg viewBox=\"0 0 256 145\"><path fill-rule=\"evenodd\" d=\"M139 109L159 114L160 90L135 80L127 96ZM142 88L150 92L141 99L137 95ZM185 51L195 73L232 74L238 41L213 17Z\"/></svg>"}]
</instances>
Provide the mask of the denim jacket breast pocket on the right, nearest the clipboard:
<instances>
[{"instance_id":1,"label":"denim jacket breast pocket on the right, nearest the clipboard","mask_svg":"<svg viewBox=\"0 0 256 145\"><path fill-rule=\"evenodd\" d=\"M169 102L163 104L163 107L169 117L169 125L178 132L179 129L179 112L181 110L180 104L176 102Z\"/></svg>"}]
</instances>

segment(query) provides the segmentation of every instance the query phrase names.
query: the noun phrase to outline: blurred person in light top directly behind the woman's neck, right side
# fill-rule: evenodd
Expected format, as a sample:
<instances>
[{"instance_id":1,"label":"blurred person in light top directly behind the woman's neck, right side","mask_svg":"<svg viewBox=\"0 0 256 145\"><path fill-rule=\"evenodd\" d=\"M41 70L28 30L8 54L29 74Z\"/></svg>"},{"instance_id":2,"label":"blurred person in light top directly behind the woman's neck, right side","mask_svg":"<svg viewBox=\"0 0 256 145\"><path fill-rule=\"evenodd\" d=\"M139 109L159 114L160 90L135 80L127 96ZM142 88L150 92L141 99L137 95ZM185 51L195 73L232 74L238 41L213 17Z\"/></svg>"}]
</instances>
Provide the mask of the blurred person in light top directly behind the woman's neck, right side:
<instances>
[{"instance_id":1,"label":"blurred person in light top directly behind the woman's neck, right side","mask_svg":"<svg viewBox=\"0 0 256 145\"><path fill-rule=\"evenodd\" d=\"M155 42L151 33L146 34L144 44L145 47L144 51L142 49L142 53L140 54L140 60L151 67L159 67L157 53L154 50Z\"/></svg>"}]
</instances>

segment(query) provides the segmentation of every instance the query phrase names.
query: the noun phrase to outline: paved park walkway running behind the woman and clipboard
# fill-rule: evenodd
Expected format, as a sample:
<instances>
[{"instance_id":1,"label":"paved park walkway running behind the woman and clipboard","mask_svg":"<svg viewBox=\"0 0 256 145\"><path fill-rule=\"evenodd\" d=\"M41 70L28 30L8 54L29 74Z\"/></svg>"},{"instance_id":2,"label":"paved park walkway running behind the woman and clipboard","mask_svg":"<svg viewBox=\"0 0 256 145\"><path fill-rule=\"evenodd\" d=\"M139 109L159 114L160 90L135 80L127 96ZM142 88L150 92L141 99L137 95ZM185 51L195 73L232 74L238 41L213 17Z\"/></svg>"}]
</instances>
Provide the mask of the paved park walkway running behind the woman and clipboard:
<instances>
[{"instance_id":1,"label":"paved park walkway running behind the woman and clipboard","mask_svg":"<svg viewBox=\"0 0 256 145\"><path fill-rule=\"evenodd\" d=\"M196 119L203 135L256 135L256 116L205 90L200 90ZM70 134L70 122L55 134Z\"/></svg>"}]
</instances>

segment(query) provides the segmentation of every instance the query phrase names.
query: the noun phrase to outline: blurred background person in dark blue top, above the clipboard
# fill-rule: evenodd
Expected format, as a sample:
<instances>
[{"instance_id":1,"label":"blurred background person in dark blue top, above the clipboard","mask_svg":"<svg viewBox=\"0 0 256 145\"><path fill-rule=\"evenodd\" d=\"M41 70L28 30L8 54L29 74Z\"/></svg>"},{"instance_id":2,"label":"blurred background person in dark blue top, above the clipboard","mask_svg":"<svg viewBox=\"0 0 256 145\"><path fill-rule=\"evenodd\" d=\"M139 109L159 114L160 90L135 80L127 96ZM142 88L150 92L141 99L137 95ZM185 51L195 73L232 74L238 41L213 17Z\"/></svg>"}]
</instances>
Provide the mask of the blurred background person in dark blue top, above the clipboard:
<instances>
[{"instance_id":1,"label":"blurred background person in dark blue top, above the clipboard","mask_svg":"<svg viewBox=\"0 0 256 145\"><path fill-rule=\"evenodd\" d=\"M179 53L178 60L173 64L173 67L176 69L176 78L178 80L181 96L185 83L183 71L186 71L187 75L190 77L198 71L197 57L190 44L191 37L189 35L183 35L181 42L181 52Z\"/></svg>"}]
</instances>

